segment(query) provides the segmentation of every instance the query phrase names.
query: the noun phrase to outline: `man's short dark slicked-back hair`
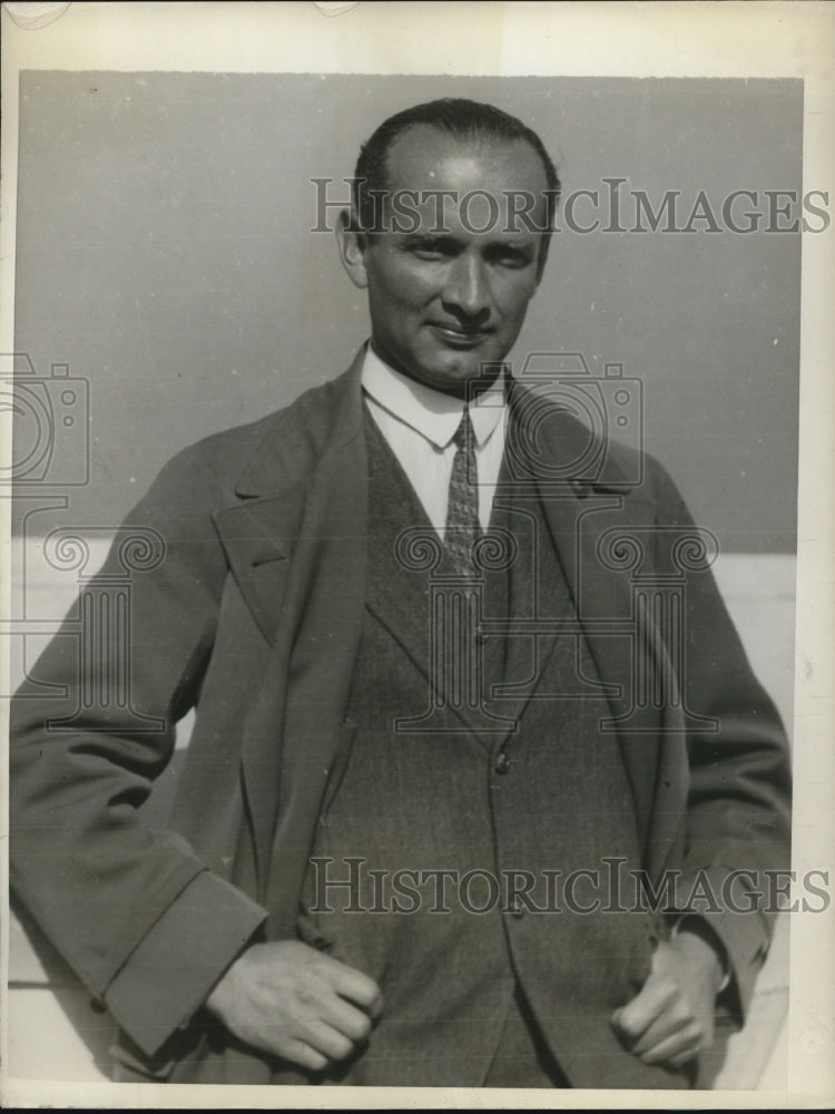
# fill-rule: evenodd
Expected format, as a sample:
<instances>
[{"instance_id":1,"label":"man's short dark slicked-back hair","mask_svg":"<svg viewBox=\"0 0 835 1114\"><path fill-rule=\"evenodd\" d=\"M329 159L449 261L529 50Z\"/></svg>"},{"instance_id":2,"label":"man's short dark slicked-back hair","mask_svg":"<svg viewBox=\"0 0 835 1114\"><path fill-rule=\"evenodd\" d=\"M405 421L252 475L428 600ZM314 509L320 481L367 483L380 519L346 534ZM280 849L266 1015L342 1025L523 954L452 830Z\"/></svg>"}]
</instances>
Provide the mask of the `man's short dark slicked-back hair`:
<instances>
[{"instance_id":1,"label":"man's short dark slicked-back hair","mask_svg":"<svg viewBox=\"0 0 835 1114\"><path fill-rule=\"evenodd\" d=\"M355 226L371 229L375 225L375 205L372 190L386 188L389 150L397 136L419 124L426 124L461 139L521 139L539 155L546 172L546 246L553 227L553 216L560 194L560 179L536 131L522 124L515 116L503 113L493 105L462 97L444 97L430 100L425 105L414 105L384 120L372 137L360 148L360 157L352 184L353 221Z\"/></svg>"}]
</instances>

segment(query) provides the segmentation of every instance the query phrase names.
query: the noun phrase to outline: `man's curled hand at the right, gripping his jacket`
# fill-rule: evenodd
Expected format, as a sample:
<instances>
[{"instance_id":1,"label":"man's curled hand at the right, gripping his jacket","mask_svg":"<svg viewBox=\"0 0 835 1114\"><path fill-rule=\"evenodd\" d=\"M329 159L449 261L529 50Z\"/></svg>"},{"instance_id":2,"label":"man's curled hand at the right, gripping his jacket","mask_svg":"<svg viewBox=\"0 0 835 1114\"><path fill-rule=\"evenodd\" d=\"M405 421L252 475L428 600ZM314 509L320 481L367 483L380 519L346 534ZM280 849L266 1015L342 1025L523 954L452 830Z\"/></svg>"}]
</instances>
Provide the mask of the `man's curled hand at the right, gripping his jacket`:
<instances>
[{"instance_id":1,"label":"man's curled hand at the right, gripping his jacket","mask_svg":"<svg viewBox=\"0 0 835 1114\"><path fill-rule=\"evenodd\" d=\"M615 1010L612 1026L645 1064L681 1067L714 1043L714 1005L721 981L714 948L682 930L658 945L649 978L630 1003Z\"/></svg>"}]
</instances>

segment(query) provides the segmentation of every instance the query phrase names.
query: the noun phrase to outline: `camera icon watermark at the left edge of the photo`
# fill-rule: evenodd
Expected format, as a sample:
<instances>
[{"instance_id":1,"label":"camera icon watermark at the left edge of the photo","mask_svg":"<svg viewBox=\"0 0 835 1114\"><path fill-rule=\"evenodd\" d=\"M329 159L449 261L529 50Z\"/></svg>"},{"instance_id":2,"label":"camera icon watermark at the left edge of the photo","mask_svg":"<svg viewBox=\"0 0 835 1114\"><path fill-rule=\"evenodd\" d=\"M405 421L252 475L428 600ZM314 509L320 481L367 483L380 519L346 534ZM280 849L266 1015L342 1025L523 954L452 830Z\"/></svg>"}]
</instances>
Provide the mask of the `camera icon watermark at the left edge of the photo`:
<instances>
[{"instance_id":1,"label":"camera icon watermark at the left edge of the photo","mask_svg":"<svg viewBox=\"0 0 835 1114\"><path fill-rule=\"evenodd\" d=\"M81 487L89 480L89 383L53 363L39 375L26 352L0 354L0 411L12 416L0 485Z\"/></svg>"}]
</instances>

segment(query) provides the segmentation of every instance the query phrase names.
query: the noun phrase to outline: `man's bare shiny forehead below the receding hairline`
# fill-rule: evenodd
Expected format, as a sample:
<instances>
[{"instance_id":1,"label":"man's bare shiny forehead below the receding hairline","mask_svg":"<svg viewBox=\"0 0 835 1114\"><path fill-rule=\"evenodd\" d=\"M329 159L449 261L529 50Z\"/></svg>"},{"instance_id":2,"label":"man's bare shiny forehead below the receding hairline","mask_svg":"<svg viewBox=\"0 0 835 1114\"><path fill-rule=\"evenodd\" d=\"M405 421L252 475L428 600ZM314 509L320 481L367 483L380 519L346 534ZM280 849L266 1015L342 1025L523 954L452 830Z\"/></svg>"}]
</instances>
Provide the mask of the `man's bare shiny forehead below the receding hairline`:
<instances>
[{"instance_id":1,"label":"man's bare shiny forehead below the receding hairline","mask_svg":"<svg viewBox=\"0 0 835 1114\"><path fill-rule=\"evenodd\" d=\"M484 189L497 199L510 190L527 190L539 198L548 180L542 160L524 139L463 138L421 124L389 148L386 187L462 194Z\"/></svg>"}]
</instances>

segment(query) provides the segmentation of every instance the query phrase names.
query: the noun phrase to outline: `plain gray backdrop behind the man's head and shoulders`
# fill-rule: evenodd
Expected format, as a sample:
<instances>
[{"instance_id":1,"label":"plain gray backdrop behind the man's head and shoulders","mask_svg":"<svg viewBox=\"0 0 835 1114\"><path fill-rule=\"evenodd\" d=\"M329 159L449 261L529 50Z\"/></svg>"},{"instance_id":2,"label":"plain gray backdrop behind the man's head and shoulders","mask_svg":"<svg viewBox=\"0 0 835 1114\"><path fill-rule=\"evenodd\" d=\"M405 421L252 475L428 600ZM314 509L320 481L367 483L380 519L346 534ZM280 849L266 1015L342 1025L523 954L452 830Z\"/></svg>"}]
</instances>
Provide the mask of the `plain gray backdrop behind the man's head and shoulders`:
<instances>
[{"instance_id":1,"label":"plain gray backdrop behind the man's head and shoulders","mask_svg":"<svg viewBox=\"0 0 835 1114\"><path fill-rule=\"evenodd\" d=\"M718 214L734 189L802 188L796 80L24 74L16 350L90 400L89 483L29 534L117 526L177 449L344 370L366 312L310 232L310 179L344 196L374 127L439 96L520 116L564 194L678 189L684 223L700 189ZM563 231L511 359L622 363L696 519L726 551L789 553L799 265L798 234Z\"/></svg>"}]
</instances>

